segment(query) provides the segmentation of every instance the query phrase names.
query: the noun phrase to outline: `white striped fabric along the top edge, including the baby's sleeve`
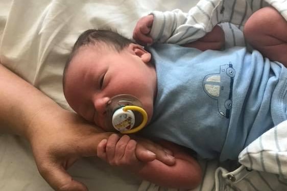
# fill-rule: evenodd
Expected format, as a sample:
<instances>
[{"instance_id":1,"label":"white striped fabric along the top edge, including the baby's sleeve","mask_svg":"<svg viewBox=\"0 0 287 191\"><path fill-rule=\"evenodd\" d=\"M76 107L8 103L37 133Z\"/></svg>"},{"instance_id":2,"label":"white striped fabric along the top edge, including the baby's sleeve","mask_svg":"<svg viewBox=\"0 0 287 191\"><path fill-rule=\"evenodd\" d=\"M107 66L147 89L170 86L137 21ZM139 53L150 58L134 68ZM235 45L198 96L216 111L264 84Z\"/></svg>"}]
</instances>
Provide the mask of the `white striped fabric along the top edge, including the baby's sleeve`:
<instances>
[{"instance_id":1,"label":"white striped fabric along the top edge, including the baby's sleeve","mask_svg":"<svg viewBox=\"0 0 287 191\"><path fill-rule=\"evenodd\" d=\"M256 10L272 5L287 20L287 0L201 0L188 13L179 9L154 11L151 36L156 42L184 44L203 37L218 23L229 22L243 30L249 16ZM234 30L226 28L231 34ZM237 36L232 36L234 45Z\"/></svg>"}]
</instances>

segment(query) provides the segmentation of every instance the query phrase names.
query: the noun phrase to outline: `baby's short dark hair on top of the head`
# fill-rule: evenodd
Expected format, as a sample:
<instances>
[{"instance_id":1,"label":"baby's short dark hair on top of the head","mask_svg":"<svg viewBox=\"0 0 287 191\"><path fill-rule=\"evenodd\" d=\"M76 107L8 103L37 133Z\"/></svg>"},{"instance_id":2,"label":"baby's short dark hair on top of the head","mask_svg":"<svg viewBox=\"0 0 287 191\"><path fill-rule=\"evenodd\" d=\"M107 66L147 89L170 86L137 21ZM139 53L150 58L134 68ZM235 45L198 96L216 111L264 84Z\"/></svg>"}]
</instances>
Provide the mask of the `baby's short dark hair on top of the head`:
<instances>
[{"instance_id":1,"label":"baby's short dark hair on top of the head","mask_svg":"<svg viewBox=\"0 0 287 191\"><path fill-rule=\"evenodd\" d=\"M63 86L65 84L65 73L66 70L77 54L78 50L82 46L86 45L107 45L111 49L114 49L117 52L121 52L125 47L130 43L134 43L131 39L124 37L123 35L118 34L112 30L97 30L89 29L84 31L75 42L74 47L66 61L64 72L63 72ZM64 87L63 87L64 88Z\"/></svg>"}]
</instances>

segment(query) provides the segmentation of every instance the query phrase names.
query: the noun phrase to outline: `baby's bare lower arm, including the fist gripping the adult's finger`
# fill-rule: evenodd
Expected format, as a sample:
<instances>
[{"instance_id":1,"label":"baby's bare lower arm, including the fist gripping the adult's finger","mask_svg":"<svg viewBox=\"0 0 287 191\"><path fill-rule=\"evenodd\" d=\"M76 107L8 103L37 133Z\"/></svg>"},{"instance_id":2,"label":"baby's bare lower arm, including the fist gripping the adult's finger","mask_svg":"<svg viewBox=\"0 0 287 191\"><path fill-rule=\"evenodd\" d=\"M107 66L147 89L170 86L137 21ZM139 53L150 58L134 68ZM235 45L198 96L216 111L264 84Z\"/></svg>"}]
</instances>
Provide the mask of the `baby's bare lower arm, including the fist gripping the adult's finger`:
<instances>
[{"instance_id":1,"label":"baby's bare lower arm, including the fist gripping the adult's finger","mask_svg":"<svg viewBox=\"0 0 287 191\"><path fill-rule=\"evenodd\" d=\"M141 162L136 158L136 141L129 136L111 135L98 145L98 157L111 165L122 166L141 178L164 187L195 188L201 181L201 169L198 162L184 149L167 141L162 146L169 148L176 159L172 166L155 159Z\"/></svg>"}]
</instances>

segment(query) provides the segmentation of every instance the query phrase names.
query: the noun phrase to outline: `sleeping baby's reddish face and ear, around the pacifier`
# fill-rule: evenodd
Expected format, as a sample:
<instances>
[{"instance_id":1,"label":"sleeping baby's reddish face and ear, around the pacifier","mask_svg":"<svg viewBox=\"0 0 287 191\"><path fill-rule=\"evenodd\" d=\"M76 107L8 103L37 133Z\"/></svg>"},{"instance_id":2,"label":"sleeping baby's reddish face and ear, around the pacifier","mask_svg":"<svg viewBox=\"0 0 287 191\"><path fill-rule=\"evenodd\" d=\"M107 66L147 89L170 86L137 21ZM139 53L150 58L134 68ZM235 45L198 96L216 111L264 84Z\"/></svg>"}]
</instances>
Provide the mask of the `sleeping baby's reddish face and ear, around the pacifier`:
<instances>
[{"instance_id":1,"label":"sleeping baby's reddish face and ear, around the pacifier","mask_svg":"<svg viewBox=\"0 0 287 191\"><path fill-rule=\"evenodd\" d=\"M99 50L93 45L83 46L66 71L65 98L86 120L111 131L105 124L109 100L130 94L142 103L149 122L156 94L155 68L149 61L150 53L136 44L121 53L109 47Z\"/></svg>"}]
</instances>

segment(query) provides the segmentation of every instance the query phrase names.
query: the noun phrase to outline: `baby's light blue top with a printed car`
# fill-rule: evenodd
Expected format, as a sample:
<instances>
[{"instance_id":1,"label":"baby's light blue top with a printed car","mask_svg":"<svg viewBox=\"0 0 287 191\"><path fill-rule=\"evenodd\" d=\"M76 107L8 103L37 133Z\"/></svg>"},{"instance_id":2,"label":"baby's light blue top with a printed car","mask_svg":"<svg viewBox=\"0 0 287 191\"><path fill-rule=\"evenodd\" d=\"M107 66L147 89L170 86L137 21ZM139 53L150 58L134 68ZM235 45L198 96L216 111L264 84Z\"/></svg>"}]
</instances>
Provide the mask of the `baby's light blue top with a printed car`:
<instances>
[{"instance_id":1,"label":"baby's light blue top with a printed car","mask_svg":"<svg viewBox=\"0 0 287 191\"><path fill-rule=\"evenodd\" d=\"M206 159L236 159L286 120L286 68L244 47L205 51L175 44L148 48L157 73L151 123L141 133Z\"/></svg>"}]
</instances>

